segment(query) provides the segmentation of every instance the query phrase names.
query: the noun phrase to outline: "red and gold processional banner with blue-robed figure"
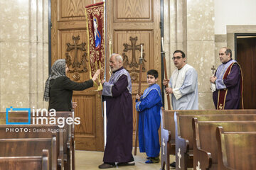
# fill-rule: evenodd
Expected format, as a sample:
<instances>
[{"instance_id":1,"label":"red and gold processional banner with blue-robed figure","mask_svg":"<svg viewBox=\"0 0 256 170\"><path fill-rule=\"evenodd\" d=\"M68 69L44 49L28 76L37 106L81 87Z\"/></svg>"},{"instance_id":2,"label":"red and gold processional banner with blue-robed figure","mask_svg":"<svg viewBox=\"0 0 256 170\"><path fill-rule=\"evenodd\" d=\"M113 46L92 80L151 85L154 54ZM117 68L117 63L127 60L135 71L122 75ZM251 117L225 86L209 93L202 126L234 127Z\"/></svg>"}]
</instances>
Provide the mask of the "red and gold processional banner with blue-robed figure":
<instances>
[{"instance_id":1,"label":"red and gold processional banner with blue-robed figure","mask_svg":"<svg viewBox=\"0 0 256 170\"><path fill-rule=\"evenodd\" d=\"M87 18L87 50L90 56L89 69L90 78L97 69L102 69L100 80L104 79L105 69L105 13L104 2L91 4L85 7ZM102 90L100 84L98 90Z\"/></svg>"}]
</instances>

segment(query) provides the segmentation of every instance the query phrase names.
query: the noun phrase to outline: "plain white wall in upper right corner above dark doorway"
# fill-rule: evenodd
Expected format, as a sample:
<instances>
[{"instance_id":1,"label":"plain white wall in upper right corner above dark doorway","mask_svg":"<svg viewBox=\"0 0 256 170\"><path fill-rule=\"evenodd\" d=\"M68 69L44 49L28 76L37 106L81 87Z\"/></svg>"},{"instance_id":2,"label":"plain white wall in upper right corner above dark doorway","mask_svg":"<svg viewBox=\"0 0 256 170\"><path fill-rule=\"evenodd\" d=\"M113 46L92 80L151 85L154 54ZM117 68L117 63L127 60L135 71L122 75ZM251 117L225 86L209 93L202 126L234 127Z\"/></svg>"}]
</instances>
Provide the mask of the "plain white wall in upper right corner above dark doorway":
<instances>
[{"instance_id":1,"label":"plain white wall in upper right corner above dark doorway","mask_svg":"<svg viewBox=\"0 0 256 170\"><path fill-rule=\"evenodd\" d=\"M215 0L215 34L227 25L256 25L256 0Z\"/></svg>"}]
</instances>

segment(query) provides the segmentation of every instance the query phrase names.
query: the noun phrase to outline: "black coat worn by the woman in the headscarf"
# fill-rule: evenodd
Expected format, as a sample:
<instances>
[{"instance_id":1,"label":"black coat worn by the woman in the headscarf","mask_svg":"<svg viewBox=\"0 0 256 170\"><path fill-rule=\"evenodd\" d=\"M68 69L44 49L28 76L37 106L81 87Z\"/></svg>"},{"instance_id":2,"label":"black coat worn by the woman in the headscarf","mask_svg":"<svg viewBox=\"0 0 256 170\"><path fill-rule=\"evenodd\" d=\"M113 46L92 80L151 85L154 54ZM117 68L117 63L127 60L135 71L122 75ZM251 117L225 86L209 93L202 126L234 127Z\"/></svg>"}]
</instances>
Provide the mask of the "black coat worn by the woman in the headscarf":
<instances>
[{"instance_id":1,"label":"black coat worn by the woman in the headscarf","mask_svg":"<svg viewBox=\"0 0 256 170\"><path fill-rule=\"evenodd\" d=\"M70 80L68 77L58 77L50 80L49 108L55 111L71 111L73 90L82 91L93 86L92 79L83 83Z\"/></svg>"}]
</instances>

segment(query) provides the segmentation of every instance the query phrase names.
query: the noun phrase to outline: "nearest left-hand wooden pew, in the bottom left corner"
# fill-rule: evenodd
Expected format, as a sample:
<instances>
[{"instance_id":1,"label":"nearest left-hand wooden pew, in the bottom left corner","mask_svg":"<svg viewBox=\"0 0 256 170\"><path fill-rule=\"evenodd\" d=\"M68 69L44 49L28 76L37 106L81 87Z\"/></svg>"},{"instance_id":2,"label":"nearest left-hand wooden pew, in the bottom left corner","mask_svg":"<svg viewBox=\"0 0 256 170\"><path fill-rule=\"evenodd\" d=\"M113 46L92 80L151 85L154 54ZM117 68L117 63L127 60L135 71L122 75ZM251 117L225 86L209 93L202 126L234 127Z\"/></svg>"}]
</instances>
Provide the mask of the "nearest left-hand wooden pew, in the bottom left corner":
<instances>
[{"instance_id":1,"label":"nearest left-hand wooden pew, in the bottom left corner","mask_svg":"<svg viewBox=\"0 0 256 170\"><path fill-rule=\"evenodd\" d=\"M42 156L0 157L0 170L49 170L48 149L43 149Z\"/></svg>"}]
</instances>

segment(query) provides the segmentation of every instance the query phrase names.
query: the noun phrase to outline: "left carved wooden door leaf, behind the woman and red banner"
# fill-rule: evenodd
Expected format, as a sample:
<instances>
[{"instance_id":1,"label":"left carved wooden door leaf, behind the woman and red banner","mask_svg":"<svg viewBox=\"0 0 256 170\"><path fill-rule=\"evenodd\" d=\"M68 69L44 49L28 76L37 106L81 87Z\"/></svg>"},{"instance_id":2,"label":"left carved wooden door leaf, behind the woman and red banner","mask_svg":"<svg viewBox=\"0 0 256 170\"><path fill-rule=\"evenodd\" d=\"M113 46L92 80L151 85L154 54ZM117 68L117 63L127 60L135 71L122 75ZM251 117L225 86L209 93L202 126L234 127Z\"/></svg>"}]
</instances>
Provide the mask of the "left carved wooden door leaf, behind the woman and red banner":
<instances>
[{"instance_id":1,"label":"left carved wooden door leaf, behind the woman and red banner","mask_svg":"<svg viewBox=\"0 0 256 170\"><path fill-rule=\"evenodd\" d=\"M96 1L100 2L100 1ZM68 77L82 82L89 78L85 6L90 0L51 0L51 60L68 58ZM78 68L80 65L80 68ZM80 117L80 125L75 125L76 149L103 151L104 130L101 98L90 88L73 91L73 101L78 102L75 116Z\"/></svg>"}]
</instances>

